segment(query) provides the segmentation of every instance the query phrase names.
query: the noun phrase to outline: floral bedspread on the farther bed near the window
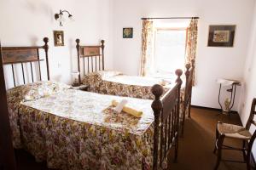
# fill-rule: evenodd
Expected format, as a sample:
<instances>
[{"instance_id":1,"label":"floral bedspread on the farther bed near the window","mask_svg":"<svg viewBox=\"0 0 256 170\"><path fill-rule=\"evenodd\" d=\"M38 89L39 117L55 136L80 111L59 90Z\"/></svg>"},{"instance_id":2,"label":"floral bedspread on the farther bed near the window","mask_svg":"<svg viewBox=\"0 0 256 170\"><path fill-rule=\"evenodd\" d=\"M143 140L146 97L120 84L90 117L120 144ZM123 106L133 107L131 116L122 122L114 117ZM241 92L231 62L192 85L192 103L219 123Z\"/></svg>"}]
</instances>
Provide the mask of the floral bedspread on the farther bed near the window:
<instances>
[{"instance_id":1,"label":"floral bedspread on the farther bed near the window","mask_svg":"<svg viewBox=\"0 0 256 170\"><path fill-rule=\"evenodd\" d=\"M130 79L130 80L127 80ZM141 80L139 80L141 79ZM143 79L143 81L142 81ZM97 94L109 94L117 96L127 96L139 99L154 99L151 88L160 80L154 78L125 76L119 71L96 71L84 76L83 84L90 87L90 92ZM173 86L166 84L164 86L165 94ZM183 120L183 99L185 82L181 88L180 120ZM187 112L187 111L186 111Z\"/></svg>"}]
</instances>

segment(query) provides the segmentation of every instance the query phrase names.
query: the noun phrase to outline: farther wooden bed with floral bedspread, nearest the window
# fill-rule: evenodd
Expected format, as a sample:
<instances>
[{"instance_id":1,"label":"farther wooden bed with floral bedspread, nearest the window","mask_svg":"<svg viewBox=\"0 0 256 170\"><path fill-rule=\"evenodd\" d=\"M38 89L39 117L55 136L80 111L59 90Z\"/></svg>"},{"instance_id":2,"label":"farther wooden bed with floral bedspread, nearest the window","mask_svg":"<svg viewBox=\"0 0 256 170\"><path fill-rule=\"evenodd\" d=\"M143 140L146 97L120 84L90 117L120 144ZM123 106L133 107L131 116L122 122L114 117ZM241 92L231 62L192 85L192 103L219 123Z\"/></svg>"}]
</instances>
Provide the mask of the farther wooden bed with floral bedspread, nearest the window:
<instances>
[{"instance_id":1,"label":"farther wooden bed with floral bedspread, nearest the window","mask_svg":"<svg viewBox=\"0 0 256 170\"><path fill-rule=\"evenodd\" d=\"M176 82L176 77L168 79L153 77L127 76L120 71L106 71L104 69L104 48L105 41L100 45L83 46L80 40L76 39L78 54L79 83L90 88L90 92L97 94L110 94L127 96L139 99L154 99L151 87L160 84L164 88L165 94ZM181 136L185 125L185 116L190 117L192 81L194 77L195 60L192 65L187 64L183 86L181 87L180 125Z\"/></svg>"}]
</instances>

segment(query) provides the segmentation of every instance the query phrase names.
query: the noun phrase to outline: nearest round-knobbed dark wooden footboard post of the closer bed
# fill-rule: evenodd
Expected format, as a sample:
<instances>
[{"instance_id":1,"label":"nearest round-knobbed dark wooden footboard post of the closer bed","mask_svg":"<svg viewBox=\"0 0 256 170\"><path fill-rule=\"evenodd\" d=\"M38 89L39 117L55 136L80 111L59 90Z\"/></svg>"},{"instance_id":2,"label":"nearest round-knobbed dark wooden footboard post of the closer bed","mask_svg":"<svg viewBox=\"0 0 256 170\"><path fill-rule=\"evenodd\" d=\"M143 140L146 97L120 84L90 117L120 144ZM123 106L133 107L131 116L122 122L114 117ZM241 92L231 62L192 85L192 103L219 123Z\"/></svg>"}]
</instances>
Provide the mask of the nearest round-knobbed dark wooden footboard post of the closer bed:
<instances>
[{"instance_id":1,"label":"nearest round-knobbed dark wooden footboard post of the closer bed","mask_svg":"<svg viewBox=\"0 0 256 170\"><path fill-rule=\"evenodd\" d=\"M155 84L151 88L152 94L154 94L154 101L151 105L151 108L154 111L154 161L153 169L157 170L158 167L158 143L159 143L159 127L160 127L160 113L163 109L162 101L160 96L163 94L164 89L159 84Z\"/></svg>"}]
</instances>

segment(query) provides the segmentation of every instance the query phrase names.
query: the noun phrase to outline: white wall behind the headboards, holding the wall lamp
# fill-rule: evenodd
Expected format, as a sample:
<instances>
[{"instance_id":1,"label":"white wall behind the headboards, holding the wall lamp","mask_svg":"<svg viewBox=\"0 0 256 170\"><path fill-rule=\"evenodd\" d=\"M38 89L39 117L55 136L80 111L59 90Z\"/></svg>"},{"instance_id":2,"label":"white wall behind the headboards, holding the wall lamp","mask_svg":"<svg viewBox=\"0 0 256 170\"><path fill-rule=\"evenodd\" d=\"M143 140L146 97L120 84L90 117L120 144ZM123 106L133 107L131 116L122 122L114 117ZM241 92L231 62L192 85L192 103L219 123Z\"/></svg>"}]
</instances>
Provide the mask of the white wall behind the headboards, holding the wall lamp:
<instances>
[{"instance_id":1,"label":"white wall behind the headboards, holding the wall lamp","mask_svg":"<svg viewBox=\"0 0 256 170\"><path fill-rule=\"evenodd\" d=\"M60 27L54 19L60 9L67 9L75 21ZM75 39L78 37L81 44L94 45L105 39L106 66L112 68L109 10L109 0L0 0L1 42L3 46L43 45L43 38L49 37L50 78L70 82L71 72L77 71ZM64 31L64 47L54 47L54 30Z\"/></svg>"}]
</instances>

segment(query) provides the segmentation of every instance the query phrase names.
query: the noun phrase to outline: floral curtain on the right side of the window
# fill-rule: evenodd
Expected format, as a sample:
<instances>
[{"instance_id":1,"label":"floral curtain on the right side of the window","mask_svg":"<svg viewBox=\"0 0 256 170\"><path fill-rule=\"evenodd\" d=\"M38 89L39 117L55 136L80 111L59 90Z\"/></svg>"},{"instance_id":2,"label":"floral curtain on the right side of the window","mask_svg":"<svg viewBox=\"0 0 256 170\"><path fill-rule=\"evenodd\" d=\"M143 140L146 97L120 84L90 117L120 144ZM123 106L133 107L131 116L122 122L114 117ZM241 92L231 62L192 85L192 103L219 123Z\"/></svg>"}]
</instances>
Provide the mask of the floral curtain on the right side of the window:
<instances>
[{"instance_id":1,"label":"floral curtain on the right side of the window","mask_svg":"<svg viewBox=\"0 0 256 170\"><path fill-rule=\"evenodd\" d=\"M192 65L192 59L195 59L197 45L197 23L198 20L192 19L187 28L187 44L186 44L186 59L185 62ZM193 75L193 86L195 86L195 71Z\"/></svg>"}]
</instances>

